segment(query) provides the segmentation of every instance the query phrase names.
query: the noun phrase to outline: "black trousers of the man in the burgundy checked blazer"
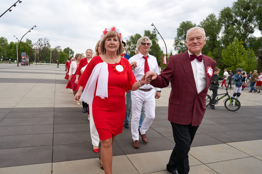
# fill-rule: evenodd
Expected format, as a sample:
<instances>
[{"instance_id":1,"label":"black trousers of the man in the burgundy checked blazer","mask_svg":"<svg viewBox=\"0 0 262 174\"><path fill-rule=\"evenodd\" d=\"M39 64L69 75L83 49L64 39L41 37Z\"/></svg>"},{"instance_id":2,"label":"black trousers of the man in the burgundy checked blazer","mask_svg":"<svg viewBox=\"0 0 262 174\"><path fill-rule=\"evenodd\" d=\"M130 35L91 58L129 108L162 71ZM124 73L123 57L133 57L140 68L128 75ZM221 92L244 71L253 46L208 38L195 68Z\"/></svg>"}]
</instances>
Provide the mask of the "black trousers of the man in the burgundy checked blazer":
<instances>
[{"instance_id":1,"label":"black trousers of the man in the burgundy checked blazer","mask_svg":"<svg viewBox=\"0 0 262 174\"><path fill-rule=\"evenodd\" d=\"M199 126L170 123L176 145L167 164L167 170L177 169L179 174L188 174L188 152Z\"/></svg>"}]
</instances>

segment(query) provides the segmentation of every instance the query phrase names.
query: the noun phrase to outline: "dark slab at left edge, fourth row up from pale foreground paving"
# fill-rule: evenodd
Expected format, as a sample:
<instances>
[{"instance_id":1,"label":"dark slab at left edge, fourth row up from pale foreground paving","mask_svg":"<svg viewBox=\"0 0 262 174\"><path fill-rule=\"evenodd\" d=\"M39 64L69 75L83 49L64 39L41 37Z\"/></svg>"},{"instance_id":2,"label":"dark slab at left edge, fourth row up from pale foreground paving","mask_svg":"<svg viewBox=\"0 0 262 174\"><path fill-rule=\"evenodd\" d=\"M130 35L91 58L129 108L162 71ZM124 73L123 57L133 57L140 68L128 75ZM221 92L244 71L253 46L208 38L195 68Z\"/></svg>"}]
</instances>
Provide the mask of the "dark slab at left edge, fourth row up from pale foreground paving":
<instances>
[{"instance_id":1,"label":"dark slab at left edge, fourth row up from pale foreground paving","mask_svg":"<svg viewBox=\"0 0 262 174\"><path fill-rule=\"evenodd\" d=\"M0 126L22 126L22 125L50 125L53 124L53 118L11 118L3 119Z\"/></svg>"}]
</instances>

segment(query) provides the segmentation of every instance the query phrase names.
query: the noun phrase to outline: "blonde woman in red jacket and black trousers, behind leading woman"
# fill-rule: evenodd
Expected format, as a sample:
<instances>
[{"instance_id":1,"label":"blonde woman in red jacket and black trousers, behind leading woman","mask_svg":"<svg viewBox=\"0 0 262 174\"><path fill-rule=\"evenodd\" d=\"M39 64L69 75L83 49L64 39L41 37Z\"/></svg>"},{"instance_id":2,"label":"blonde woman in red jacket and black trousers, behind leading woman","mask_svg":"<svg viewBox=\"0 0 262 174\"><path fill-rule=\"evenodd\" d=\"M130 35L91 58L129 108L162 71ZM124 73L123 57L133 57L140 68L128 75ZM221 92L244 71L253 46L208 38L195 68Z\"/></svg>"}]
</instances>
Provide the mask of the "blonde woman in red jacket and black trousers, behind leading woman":
<instances>
[{"instance_id":1,"label":"blonde woman in red jacket and black trousers, behind leading woman","mask_svg":"<svg viewBox=\"0 0 262 174\"><path fill-rule=\"evenodd\" d=\"M93 54L93 51L92 51L91 49L87 49L87 50L85 51L86 57L83 58L83 59L81 59L81 61L80 61L80 63L79 63L79 66L78 66L78 68L77 68L77 70L76 70L75 84L78 83L79 76L81 76L81 74L82 74L81 69L82 69L84 66L86 66L86 65L90 62L90 60L92 59L92 54ZM88 121L90 121L88 104L85 103L85 102L82 102L82 105L83 105L83 112L84 112L84 113L86 113L86 112L88 113Z\"/></svg>"}]
</instances>

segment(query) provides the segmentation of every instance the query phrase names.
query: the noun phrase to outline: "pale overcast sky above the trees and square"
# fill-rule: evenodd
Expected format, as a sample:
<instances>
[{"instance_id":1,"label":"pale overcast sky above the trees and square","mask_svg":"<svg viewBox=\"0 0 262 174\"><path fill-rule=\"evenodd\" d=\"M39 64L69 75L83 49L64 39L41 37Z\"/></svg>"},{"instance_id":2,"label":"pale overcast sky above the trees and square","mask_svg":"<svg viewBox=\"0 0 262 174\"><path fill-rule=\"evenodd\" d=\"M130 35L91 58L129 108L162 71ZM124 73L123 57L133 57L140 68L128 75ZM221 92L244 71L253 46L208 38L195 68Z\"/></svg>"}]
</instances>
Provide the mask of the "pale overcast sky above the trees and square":
<instances>
[{"instance_id":1,"label":"pale overcast sky above the trees and square","mask_svg":"<svg viewBox=\"0 0 262 174\"><path fill-rule=\"evenodd\" d=\"M0 0L0 14L16 0ZM210 13L218 16L224 7L232 7L234 0L22 0L0 18L0 37L10 42L22 39L35 43L48 38L51 47L70 47L75 53L94 50L104 28L119 28L124 41L128 36L153 30L152 22L167 45L173 50L177 27L182 21L198 25ZM260 36L259 32L256 33ZM256 35L255 34L255 35ZM158 43L165 53L165 45L158 34Z\"/></svg>"}]
</instances>

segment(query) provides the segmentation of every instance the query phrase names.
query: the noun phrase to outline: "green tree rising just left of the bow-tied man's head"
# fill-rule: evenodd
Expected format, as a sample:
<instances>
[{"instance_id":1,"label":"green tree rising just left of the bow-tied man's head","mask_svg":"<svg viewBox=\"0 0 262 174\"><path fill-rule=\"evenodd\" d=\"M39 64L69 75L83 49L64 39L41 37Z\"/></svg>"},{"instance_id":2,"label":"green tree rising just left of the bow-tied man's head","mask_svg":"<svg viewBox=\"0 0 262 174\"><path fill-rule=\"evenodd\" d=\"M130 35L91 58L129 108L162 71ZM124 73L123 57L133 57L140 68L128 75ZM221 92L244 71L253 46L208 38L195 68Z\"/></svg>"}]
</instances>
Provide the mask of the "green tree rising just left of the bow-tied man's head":
<instances>
[{"instance_id":1,"label":"green tree rising just left of the bow-tied man's head","mask_svg":"<svg viewBox=\"0 0 262 174\"><path fill-rule=\"evenodd\" d=\"M192 21L185 21L185 22L183 21L179 24L179 27L177 28L177 36L175 37L174 44L173 44L178 54L187 51L187 45L186 45L187 30L195 26L196 24L193 24Z\"/></svg>"}]
</instances>

